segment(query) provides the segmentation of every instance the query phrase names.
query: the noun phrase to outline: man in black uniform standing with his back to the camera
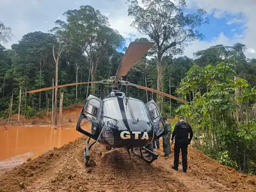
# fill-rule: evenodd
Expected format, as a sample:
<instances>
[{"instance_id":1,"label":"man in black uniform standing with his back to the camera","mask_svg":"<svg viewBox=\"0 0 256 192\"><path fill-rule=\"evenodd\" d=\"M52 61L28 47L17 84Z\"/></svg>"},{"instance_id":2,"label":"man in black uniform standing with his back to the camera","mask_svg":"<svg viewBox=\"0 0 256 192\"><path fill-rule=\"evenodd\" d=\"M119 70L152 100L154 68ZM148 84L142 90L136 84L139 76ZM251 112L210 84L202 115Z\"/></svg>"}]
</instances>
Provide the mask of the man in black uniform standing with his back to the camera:
<instances>
[{"instance_id":1,"label":"man in black uniform standing with his back to the camera","mask_svg":"<svg viewBox=\"0 0 256 192\"><path fill-rule=\"evenodd\" d=\"M188 138L189 134L189 138ZM172 143L173 138L175 138L174 144L174 162L172 168L178 170L179 167L179 154L180 149L182 153L182 172L186 173L188 168L187 154L188 154L188 145L190 144L193 138L193 131L188 122L184 121L182 115L179 116L179 122L175 124L173 134L172 134Z\"/></svg>"}]
</instances>

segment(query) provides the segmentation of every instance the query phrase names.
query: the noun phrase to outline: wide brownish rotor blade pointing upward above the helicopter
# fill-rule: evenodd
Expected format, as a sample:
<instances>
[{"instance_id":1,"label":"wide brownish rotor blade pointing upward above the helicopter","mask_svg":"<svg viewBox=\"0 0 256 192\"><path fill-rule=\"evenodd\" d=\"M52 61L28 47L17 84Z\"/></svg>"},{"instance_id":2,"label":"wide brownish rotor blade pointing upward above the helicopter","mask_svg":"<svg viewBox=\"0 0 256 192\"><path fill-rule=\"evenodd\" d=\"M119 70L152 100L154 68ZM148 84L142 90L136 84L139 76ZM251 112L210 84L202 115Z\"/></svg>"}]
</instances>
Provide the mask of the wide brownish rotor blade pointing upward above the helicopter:
<instances>
[{"instance_id":1,"label":"wide brownish rotor blade pointing upward above the helicopter","mask_svg":"<svg viewBox=\"0 0 256 192\"><path fill-rule=\"evenodd\" d=\"M132 66L146 54L146 52L154 45L152 42L131 42L124 58L116 70L116 79L126 76Z\"/></svg>"}]
</instances>

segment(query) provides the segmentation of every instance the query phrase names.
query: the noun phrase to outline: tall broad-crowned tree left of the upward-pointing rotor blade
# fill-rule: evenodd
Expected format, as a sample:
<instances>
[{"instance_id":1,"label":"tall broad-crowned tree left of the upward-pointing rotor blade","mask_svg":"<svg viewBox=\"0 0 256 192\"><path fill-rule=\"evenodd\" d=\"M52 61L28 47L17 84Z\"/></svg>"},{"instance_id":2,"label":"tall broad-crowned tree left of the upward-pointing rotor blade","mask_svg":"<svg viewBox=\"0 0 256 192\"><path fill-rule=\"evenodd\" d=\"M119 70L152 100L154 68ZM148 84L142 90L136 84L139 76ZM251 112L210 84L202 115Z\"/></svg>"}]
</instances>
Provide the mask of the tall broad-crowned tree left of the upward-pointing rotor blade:
<instances>
[{"instance_id":1,"label":"tall broad-crowned tree left of the upward-pointing rotor blade","mask_svg":"<svg viewBox=\"0 0 256 192\"><path fill-rule=\"evenodd\" d=\"M92 6L80 6L79 10L68 10L64 15L67 22L57 20L58 27L52 31L62 33L71 44L79 47L82 54L90 58L91 79L95 81L100 57L108 49L119 47L123 38L118 31L109 28L108 18Z\"/></svg>"}]
</instances>

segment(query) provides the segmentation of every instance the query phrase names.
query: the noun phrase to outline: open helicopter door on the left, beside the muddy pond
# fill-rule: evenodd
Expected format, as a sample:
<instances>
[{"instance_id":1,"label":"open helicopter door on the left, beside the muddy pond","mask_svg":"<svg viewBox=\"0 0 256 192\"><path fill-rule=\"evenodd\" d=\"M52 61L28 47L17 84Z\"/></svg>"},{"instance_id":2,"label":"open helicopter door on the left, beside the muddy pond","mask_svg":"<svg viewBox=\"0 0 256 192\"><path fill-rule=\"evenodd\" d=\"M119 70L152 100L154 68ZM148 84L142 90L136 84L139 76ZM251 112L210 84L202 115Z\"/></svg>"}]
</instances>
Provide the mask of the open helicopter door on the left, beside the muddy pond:
<instances>
[{"instance_id":1,"label":"open helicopter door on the left, beside the muddy pond","mask_svg":"<svg viewBox=\"0 0 256 192\"><path fill-rule=\"evenodd\" d=\"M82 132L86 136L92 137L97 131L97 126L100 122L100 114L102 112L102 100L93 95L89 95L86 99L86 104L81 111L81 115L77 122L77 131ZM87 120L92 124L88 124ZM90 127L88 127L88 125ZM86 131L84 130L86 129Z\"/></svg>"}]
</instances>

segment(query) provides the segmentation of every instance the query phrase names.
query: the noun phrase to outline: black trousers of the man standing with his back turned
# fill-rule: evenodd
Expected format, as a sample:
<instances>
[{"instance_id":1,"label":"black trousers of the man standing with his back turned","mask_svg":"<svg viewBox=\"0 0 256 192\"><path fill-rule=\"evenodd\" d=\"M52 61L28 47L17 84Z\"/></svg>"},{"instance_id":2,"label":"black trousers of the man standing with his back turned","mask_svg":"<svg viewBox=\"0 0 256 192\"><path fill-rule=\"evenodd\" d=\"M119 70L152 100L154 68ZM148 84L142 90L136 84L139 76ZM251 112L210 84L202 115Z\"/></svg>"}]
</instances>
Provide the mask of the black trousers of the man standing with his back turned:
<instances>
[{"instance_id":1,"label":"black trousers of the man standing with his back turned","mask_svg":"<svg viewBox=\"0 0 256 192\"><path fill-rule=\"evenodd\" d=\"M178 143L175 141L174 143L174 167L179 167L179 154L181 149L181 155L182 155L182 170L186 171L188 168L188 144L187 143Z\"/></svg>"}]
</instances>

